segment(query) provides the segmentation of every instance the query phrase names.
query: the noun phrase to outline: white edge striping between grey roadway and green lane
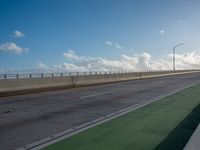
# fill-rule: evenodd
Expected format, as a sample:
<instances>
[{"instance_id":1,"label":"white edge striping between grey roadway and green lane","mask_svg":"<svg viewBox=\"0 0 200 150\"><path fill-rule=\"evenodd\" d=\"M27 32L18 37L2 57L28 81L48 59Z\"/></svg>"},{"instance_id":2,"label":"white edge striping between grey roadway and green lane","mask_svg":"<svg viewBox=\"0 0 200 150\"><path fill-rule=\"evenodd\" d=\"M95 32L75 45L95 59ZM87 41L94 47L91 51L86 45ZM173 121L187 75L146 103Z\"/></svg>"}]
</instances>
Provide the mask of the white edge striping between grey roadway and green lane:
<instances>
[{"instance_id":1,"label":"white edge striping between grey roadway and green lane","mask_svg":"<svg viewBox=\"0 0 200 150\"><path fill-rule=\"evenodd\" d=\"M127 114L127 113L129 113L129 112L131 112L133 110L137 110L137 109L139 109L139 108L141 108L143 106L146 106L146 105L151 104L151 103L153 103L155 101L161 100L164 97L173 95L173 94L175 94L177 92L180 92L180 91L182 91L184 89L187 89L187 88L192 87L194 85L197 85L199 83L200 82L197 82L197 83L194 83L194 84L190 84L190 85L188 85L186 87L179 88L179 89L175 90L174 92L171 92L171 93L168 93L168 94L163 94L161 96L157 96L157 97L154 97L154 98L150 98L150 99L148 99L148 100L146 100L146 101L144 101L142 103L139 103L139 104L124 108L124 109L119 110L117 112L114 112L114 113L112 113L110 115L107 115L107 116L104 116L104 117L100 117L100 118L95 119L95 120L93 120L91 122L87 122L87 123L85 123L83 125L79 125L77 127L73 127L73 128L68 129L68 130L66 130L64 132L58 133L56 135L47 137L47 138L42 139L40 141L37 141L37 142L34 142L32 144L26 145L24 147L18 148L17 150L40 150L40 149L42 149L44 147L47 147L47 146L49 146L51 144L54 144L54 143L58 142L58 141L61 141L61 140L66 139L68 137L71 137L72 135L78 134L78 133L80 133L82 131L85 131L85 130L87 130L89 128L92 128L92 127L95 127L95 126L97 126L99 124L107 122L107 121L109 121L111 119L114 119L114 118L117 118L117 117L122 116L124 114Z\"/></svg>"}]
</instances>

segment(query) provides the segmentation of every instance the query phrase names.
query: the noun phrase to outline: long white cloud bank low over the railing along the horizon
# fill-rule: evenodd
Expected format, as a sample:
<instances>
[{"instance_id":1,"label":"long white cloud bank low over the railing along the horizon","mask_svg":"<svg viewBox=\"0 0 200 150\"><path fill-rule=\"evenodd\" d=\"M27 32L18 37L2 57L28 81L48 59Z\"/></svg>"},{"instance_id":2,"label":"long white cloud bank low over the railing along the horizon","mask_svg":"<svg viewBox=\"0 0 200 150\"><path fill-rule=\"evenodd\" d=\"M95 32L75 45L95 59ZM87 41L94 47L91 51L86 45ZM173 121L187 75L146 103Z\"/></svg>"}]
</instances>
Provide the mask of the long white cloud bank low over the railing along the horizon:
<instances>
[{"instance_id":1,"label":"long white cloud bank low over the railing along the horizon","mask_svg":"<svg viewBox=\"0 0 200 150\"><path fill-rule=\"evenodd\" d=\"M79 56L73 50L63 54L66 62L48 66L39 62L34 68L0 69L1 73L30 73L30 72L88 72L88 71L150 71L171 70L172 54L164 58L154 59L151 54L143 52L133 56L121 55L119 59L102 57ZM196 52L176 54L176 68L199 69L200 55Z\"/></svg>"}]
</instances>

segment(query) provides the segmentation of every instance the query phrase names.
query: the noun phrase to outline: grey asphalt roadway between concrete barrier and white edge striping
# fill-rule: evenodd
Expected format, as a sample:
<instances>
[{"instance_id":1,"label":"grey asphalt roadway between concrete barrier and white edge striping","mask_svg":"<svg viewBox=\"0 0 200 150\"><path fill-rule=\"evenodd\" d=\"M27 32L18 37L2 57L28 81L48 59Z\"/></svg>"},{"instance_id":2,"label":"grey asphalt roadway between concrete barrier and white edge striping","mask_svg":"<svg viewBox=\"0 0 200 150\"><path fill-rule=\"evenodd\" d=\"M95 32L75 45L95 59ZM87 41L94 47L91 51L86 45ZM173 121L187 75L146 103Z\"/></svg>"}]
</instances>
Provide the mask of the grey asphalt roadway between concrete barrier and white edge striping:
<instances>
[{"instance_id":1,"label":"grey asphalt roadway between concrete barrier and white edge striping","mask_svg":"<svg viewBox=\"0 0 200 150\"><path fill-rule=\"evenodd\" d=\"M0 150L12 150L200 82L200 73L0 98Z\"/></svg>"}]
</instances>

